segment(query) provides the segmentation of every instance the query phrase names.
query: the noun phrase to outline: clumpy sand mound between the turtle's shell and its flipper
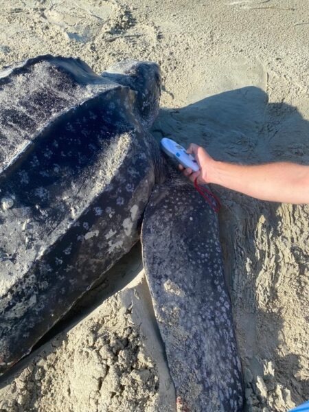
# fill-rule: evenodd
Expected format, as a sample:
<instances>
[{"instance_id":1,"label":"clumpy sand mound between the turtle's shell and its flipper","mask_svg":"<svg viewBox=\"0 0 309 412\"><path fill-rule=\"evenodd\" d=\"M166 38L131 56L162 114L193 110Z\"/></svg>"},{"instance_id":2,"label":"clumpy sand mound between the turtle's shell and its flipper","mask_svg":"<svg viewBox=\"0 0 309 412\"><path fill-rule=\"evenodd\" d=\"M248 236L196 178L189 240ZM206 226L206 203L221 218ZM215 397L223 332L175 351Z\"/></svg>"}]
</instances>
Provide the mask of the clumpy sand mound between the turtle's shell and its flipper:
<instances>
[{"instance_id":1,"label":"clumpy sand mound between the turtle's shell and its flipper","mask_svg":"<svg viewBox=\"0 0 309 412\"><path fill-rule=\"evenodd\" d=\"M173 411L143 273L32 356L1 391L1 411ZM151 306L150 306L151 308Z\"/></svg>"}]
</instances>

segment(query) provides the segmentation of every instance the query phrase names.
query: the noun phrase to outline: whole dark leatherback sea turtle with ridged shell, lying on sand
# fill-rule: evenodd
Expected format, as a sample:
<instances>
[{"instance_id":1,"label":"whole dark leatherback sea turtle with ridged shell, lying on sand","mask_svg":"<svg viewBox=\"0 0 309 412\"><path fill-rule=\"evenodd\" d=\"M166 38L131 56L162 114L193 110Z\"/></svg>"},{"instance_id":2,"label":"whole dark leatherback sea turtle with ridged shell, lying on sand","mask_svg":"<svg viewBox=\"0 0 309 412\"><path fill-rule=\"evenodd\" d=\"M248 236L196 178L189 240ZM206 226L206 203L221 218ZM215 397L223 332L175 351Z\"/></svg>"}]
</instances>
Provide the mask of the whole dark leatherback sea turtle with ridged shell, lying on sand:
<instances>
[{"instance_id":1,"label":"whole dark leatherback sea turtle with ridged shell, lying on sand","mask_svg":"<svg viewBox=\"0 0 309 412\"><path fill-rule=\"evenodd\" d=\"M0 372L141 232L179 409L242 410L216 214L149 133L159 67L130 60L98 76L39 56L0 77Z\"/></svg>"}]
</instances>

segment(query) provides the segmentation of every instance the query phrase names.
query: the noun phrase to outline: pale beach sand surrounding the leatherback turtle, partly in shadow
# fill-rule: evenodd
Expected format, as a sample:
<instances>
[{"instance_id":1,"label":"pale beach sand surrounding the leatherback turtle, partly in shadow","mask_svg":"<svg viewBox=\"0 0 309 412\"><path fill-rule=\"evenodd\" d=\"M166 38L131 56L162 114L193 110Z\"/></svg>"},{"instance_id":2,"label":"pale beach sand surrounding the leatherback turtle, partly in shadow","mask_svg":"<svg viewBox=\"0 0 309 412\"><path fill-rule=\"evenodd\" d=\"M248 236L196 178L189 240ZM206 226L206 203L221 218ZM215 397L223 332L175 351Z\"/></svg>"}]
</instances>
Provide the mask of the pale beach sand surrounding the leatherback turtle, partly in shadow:
<instances>
[{"instance_id":1,"label":"pale beach sand surrounding the leatherback turtle, partly in shadow","mask_svg":"<svg viewBox=\"0 0 309 412\"><path fill-rule=\"evenodd\" d=\"M124 58L153 60L163 76L158 139L238 163L309 164L308 1L0 4L0 65L51 53L100 73ZM246 410L288 411L309 399L309 207L213 189ZM134 253L1 382L0 411L173 410L143 275L125 286L141 271Z\"/></svg>"}]
</instances>

